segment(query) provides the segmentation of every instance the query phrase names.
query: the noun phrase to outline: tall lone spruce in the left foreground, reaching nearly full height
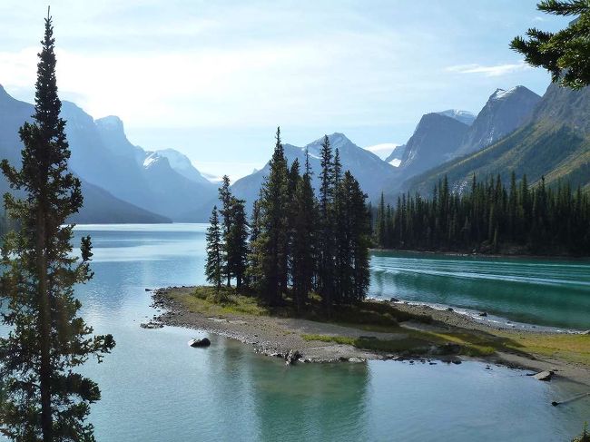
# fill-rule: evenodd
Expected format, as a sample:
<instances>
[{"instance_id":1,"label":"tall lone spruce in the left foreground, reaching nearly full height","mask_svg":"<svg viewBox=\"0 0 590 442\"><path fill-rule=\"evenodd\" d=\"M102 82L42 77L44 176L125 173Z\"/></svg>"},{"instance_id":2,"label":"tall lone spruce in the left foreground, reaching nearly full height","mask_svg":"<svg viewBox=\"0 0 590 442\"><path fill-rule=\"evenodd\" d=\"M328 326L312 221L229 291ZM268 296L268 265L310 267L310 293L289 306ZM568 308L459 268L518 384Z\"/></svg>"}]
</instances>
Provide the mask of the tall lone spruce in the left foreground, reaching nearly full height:
<instances>
[{"instance_id":1,"label":"tall lone spruce in the left foreground, reaching nearly full height","mask_svg":"<svg viewBox=\"0 0 590 442\"><path fill-rule=\"evenodd\" d=\"M101 361L114 341L111 335L93 336L77 316L81 304L74 284L93 276L92 246L84 237L82 259L71 253L74 225L67 220L82 207L83 196L67 169L70 150L60 118L53 32L48 14L34 122L19 132L22 167L2 162L7 181L25 199L5 194L5 207L19 227L6 234L2 246L0 300L7 304L2 319L10 332L0 339L0 429L15 440L90 441L93 426L85 418L101 394L93 380L74 369L91 356Z\"/></svg>"}]
</instances>

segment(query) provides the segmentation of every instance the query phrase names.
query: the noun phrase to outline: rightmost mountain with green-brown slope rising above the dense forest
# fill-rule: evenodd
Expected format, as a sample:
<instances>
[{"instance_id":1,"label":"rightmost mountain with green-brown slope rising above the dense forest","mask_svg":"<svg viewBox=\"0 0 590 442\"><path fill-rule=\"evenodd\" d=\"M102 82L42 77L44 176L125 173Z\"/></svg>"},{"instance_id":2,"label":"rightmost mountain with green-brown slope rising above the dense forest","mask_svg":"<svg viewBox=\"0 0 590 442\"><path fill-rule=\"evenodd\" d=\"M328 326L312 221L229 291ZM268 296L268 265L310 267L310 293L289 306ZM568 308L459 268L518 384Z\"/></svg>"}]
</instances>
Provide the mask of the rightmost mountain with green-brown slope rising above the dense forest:
<instances>
[{"instance_id":1,"label":"rightmost mountain with green-brown slope rising above the dense forest","mask_svg":"<svg viewBox=\"0 0 590 442\"><path fill-rule=\"evenodd\" d=\"M445 174L456 191L465 188L474 173L480 179L499 174L507 182L512 172L528 181L545 176L548 185L570 182L590 189L590 89L571 91L551 84L528 122L487 148L447 162L412 178L407 190L423 194Z\"/></svg>"}]
</instances>

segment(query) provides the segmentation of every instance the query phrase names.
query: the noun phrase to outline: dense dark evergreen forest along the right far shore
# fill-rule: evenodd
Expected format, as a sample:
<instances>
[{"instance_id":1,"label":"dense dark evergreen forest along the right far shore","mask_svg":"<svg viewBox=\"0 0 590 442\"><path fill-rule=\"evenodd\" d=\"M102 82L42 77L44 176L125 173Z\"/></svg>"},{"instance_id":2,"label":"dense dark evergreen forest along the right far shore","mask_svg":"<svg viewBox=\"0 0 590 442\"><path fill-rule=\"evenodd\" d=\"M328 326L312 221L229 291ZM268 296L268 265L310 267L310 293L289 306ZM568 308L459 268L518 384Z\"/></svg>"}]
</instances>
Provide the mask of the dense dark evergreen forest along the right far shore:
<instances>
[{"instance_id":1,"label":"dense dark evergreen forest along the right far shore","mask_svg":"<svg viewBox=\"0 0 590 442\"><path fill-rule=\"evenodd\" d=\"M506 187L498 175L466 192L447 177L430 199L403 195L395 208L381 197L374 240L381 248L532 254L590 254L590 198L568 183L531 187L526 175Z\"/></svg>"}]
</instances>

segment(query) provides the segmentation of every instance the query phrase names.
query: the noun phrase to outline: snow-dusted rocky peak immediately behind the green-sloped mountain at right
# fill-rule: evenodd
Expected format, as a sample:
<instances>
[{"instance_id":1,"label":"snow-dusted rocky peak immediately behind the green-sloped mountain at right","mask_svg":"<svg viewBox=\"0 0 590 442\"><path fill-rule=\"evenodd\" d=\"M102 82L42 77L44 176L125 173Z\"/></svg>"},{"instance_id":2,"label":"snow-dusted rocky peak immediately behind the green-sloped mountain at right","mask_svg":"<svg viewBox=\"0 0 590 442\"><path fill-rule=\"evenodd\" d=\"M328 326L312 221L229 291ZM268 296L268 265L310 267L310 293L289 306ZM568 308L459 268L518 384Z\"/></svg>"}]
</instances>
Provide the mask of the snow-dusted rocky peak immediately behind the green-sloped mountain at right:
<instances>
[{"instance_id":1,"label":"snow-dusted rocky peak immediately behind the green-sloped mountain at right","mask_svg":"<svg viewBox=\"0 0 590 442\"><path fill-rule=\"evenodd\" d=\"M514 132L530 118L540 100L540 96L525 86L516 86L507 91L497 89L477 114L464 140L457 147L455 156L477 152Z\"/></svg>"}]
</instances>

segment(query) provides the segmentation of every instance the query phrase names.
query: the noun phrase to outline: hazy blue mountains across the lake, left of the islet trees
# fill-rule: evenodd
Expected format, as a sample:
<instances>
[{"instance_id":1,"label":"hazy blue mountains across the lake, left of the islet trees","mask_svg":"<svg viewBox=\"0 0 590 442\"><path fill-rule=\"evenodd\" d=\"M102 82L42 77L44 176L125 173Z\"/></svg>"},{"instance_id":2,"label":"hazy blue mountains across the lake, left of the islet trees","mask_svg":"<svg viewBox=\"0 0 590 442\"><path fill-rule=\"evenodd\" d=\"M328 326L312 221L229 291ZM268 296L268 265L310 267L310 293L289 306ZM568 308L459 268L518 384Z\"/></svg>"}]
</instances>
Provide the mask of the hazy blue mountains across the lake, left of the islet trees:
<instances>
[{"instance_id":1,"label":"hazy blue mountains across the lake, left of the islet trees","mask_svg":"<svg viewBox=\"0 0 590 442\"><path fill-rule=\"evenodd\" d=\"M13 99L0 87L2 157L20 162L18 128L30 120L33 112L31 104ZM65 132L72 152L70 168L89 190L83 209L87 211L85 220L92 221L90 213L98 213L91 211L93 203L107 212L113 211L113 219L118 221L151 222L137 221L139 215L146 220L145 215L150 212L154 222L173 220L187 207L201 206L216 193L216 187L180 152L145 152L134 146L127 140L123 122L118 117L94 121L92 116L69 102L63 103L62 117L67 122ZM173 157L176 167L172 167L168 157ZM5 189L4 180L2 186ZM94 197L98 200L93 201ZM116 200L110 206L106 203L109 198ZM125 203L130 207L124 209Z\"/></svg>"}]
</instances>

